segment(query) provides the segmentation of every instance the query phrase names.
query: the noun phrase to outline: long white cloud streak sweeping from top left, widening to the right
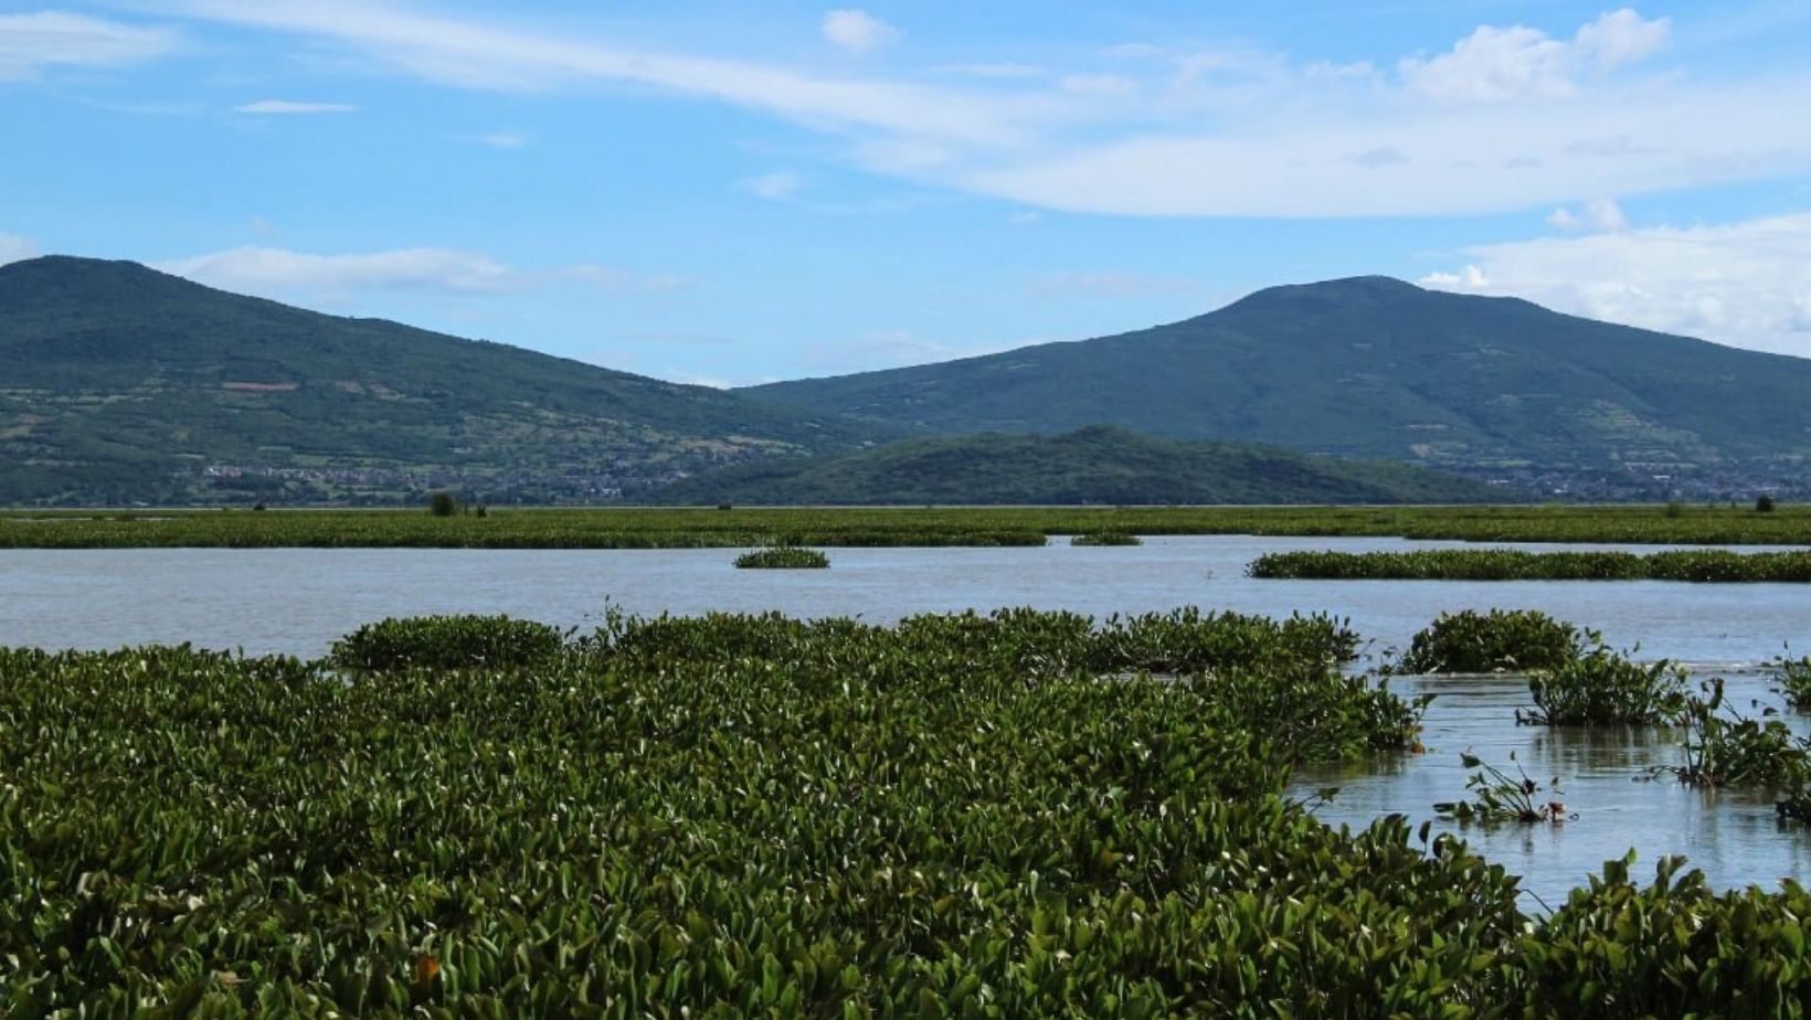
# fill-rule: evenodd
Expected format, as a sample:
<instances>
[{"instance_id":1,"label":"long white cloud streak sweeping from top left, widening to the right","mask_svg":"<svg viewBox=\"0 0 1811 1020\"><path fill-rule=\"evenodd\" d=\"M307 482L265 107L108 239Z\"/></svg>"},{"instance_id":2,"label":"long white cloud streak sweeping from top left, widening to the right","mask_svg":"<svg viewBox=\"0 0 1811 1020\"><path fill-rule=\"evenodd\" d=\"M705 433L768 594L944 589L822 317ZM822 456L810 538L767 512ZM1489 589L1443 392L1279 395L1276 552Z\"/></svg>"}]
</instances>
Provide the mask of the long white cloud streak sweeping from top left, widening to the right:
<instances>
[{"instance_id":1,"label":"long white cloud streak sweeping from top left, widening to the right","mask_svg":"<svg viewBox=\"0 0 1811 1020\"><path fill-rule=\"evenodd\" d=\"M831 152L864 170L1045 210L1498 214L1811 170L1800 114L1811 109L1811 71L1621 74L1670 34L1666 20L1628 9L1567 38L1485 25L1451 53L1411 58L1404 80L1228 51L1068 74L1065 89L1059 74L938 85L820 76L384 0L149 2L337 42L442 85L628 83L732 103L835 138ZM1101 101L1103 92L1117 98ZM1449 101L1467 96L1496 105L1485 118ZM788 183L773 178L764 190L784 194Z\"/></svg>"}]
</instances>

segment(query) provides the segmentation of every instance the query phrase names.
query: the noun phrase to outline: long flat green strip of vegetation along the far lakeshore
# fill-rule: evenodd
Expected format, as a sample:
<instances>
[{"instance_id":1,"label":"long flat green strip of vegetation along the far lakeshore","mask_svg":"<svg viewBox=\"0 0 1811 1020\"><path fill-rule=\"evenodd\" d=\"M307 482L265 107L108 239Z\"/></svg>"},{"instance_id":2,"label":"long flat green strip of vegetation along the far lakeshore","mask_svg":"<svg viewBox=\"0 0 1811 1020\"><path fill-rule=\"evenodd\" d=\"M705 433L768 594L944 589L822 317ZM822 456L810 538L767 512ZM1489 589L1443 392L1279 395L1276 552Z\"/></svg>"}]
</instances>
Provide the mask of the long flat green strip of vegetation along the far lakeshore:
<instances>
[{"instance_id":1,"label":"long flat green strip of vegetation along the far lakeshore","mask_svg":"<svg viewBox=\"0 0 1811 1020\"><path fill-rule=\"evenodd\" d=\"M0 549L1041 545L1050 534L1811 545L1811 505L0 511Z\"/></svg>"}]
</instances>

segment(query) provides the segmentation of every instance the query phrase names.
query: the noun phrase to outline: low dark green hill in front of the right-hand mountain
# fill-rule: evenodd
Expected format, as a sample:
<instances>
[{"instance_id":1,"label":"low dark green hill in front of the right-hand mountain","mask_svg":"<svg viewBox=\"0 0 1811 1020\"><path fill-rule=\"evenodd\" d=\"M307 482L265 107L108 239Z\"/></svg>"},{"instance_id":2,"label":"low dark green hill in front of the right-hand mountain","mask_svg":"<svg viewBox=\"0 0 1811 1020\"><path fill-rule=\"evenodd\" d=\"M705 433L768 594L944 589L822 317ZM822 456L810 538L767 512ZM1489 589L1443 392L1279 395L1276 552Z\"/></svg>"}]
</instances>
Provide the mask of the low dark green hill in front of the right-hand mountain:
<instances>
[{"instance_id":1,"label":"low dark green hill in front of the right-hand mountain","mask_svg":"<svg viewBox=\"0 0 1811 1020\"><path fill-rule=\"evenodd\" d=\"M1514 493L1396 462L1172 442L1094 426L1056 437L916 438L842 457L723 467L661 504L1443 504Z\"/></svg>"}]
</instances>

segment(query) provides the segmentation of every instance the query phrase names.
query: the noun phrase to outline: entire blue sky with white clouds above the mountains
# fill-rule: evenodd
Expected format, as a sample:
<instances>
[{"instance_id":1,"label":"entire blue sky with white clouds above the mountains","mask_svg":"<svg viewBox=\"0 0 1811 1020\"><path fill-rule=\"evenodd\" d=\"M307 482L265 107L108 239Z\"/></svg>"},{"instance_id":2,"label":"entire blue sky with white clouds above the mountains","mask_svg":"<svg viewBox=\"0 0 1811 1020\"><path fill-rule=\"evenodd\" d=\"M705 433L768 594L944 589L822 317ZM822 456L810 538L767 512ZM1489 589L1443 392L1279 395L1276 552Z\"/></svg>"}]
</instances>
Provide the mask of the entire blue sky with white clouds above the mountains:
<instances>
[{"instance_id":1,"label":"entire blue sky with white clouds above the mountains","mask_svg":"<svg viewBox=\"0 0 1811 1020\"><path fill-rule=\"evenodd\" d=\"M1811 4L0 0L0 263L679 382L1385 274L1811 357Z\"/></svg>"}]
</instances>

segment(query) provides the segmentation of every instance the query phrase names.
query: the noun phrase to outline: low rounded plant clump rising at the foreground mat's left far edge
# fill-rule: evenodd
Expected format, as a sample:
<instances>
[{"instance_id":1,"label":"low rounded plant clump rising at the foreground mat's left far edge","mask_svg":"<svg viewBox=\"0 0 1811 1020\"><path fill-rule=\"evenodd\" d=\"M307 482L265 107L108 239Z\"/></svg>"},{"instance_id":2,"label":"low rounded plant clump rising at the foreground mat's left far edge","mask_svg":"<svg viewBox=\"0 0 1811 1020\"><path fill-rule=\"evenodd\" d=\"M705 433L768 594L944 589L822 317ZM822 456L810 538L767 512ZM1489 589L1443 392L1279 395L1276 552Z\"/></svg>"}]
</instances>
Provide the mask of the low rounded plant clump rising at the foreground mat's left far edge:
<instances>
[{"instance_id":1,"label":"low rounded plant clump rising at the foreground mat's left far edge","mask_svg":"<svg viewBox=\"0 0 1811 1020\"><path fill-rule=\"evenodd\" d=\"M411 616L366 623L335 641L328 661L359 670L522 667L563 647L558 629L532 620Z\"/></svg>"}]
</instances>

